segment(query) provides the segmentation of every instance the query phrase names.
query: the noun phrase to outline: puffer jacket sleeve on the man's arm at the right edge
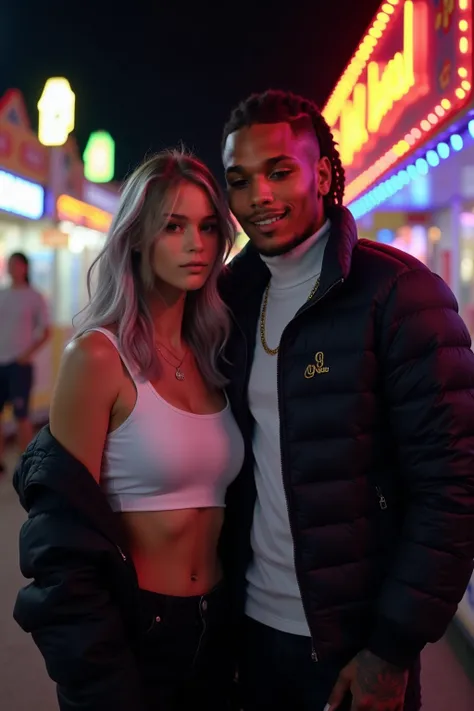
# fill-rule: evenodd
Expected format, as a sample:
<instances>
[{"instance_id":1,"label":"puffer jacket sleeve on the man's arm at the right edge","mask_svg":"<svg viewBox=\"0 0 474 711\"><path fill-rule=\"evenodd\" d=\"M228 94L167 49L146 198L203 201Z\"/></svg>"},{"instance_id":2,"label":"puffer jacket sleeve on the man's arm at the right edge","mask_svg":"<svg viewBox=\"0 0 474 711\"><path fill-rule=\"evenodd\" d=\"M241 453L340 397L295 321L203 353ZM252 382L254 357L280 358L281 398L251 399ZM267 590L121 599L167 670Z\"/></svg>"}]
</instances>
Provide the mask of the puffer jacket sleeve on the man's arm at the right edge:
<instances>
[{"instance_id":1,"label":"puffer jacket sleeve on the man's arm at the right edge","mask_svg":"<svg viewBox=\"0 0 474 711\"><path fill-rule=\"evenodd\" d=\"M369 649L406 667L444 634L473 569L474 354L453 294L421 267L397 278L380 325L405 501Z\"/></svg>"}]
</instances>

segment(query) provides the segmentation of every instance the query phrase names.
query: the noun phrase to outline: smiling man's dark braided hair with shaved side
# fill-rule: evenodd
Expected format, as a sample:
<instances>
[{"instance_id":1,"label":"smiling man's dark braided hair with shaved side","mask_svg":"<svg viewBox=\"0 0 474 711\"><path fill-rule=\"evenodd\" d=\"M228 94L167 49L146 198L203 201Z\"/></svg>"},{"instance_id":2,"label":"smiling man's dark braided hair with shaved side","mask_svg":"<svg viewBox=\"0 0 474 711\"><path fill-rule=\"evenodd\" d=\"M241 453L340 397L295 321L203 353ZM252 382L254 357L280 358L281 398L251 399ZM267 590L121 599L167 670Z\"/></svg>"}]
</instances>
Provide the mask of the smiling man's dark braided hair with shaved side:
<instances>
[{"instance_id":1,"label":"smiling man's dark braided hair with shaved side","mask_svg":"<svg viewBox=\"0 0 474 711\"><path fill-rule=\"evenodd\" d=\"M320 110L312 101L291 92L269 89L263 94L252 94L231 113L224 127L222 150L228 136L245 126L262 123L284 123L292 126L295 133L313 132L319 143L321 157L331 162L332 180L325 207L342 205L344 199L345 173L334 137ZM301 128L298 129L298 125Z\"/></svg>"}]
</instances>

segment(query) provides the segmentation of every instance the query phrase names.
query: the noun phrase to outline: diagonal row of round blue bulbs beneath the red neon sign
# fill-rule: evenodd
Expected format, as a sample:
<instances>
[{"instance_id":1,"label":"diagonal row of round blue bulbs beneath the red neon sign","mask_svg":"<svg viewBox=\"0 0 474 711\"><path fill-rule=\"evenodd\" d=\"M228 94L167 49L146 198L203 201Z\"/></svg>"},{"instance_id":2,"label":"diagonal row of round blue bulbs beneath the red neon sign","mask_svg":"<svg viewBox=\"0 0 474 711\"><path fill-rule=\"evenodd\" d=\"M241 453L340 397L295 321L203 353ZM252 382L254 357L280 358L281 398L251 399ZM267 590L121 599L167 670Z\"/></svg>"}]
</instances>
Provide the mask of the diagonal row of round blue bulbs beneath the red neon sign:
<instances>
[{"instance_id":1,"label":"diagonal row of round blue bulbs beneath the red neon sign","mask_svg":"<svg viewBox=\"0 0 474 711\"><path fill-rule=\"evenodd\" d=\"M474 139L474 120L471 120L467 127L468 135ZM418 158L414 163L407 165L398 173L387 178L377 186L369 190L365 195L349 205L354 218L367 215L375 210L379 205L396 195L412 180L417 180L420 176L428 173L441 165L441 162L449 158L451 153L462 151L465 147L465 139L460 133L453 133L446 141L440 141L436 150L430 149L423 158Z\"/></svg>"}]
</instances>

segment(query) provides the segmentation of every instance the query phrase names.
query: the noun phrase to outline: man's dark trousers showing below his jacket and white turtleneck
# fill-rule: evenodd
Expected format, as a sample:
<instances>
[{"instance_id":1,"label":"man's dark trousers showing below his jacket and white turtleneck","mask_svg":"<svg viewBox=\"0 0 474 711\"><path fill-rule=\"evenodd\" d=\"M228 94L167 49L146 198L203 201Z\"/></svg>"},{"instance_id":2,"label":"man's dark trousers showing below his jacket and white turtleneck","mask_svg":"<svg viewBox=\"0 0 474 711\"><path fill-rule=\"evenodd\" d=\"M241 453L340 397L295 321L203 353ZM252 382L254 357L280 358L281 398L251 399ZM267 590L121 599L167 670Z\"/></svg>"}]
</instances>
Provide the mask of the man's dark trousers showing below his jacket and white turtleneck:
<instances>
[{"instance_id":1,"label":"man's dark trousers showing below his jacket and white turtleneck","mask_svg":"<svg viewBox=\"0 0 474 711\"><path fill-rule=\"evenodd\" d=\"M350 658L331 662L311 659L308 637L279 632L245 618L239 664L243 711L323 711L339 672ZM405 711L419 711L419 664L407 690ZM338 711L349 711L348 695Z\"/></svg>"}]
</instances>

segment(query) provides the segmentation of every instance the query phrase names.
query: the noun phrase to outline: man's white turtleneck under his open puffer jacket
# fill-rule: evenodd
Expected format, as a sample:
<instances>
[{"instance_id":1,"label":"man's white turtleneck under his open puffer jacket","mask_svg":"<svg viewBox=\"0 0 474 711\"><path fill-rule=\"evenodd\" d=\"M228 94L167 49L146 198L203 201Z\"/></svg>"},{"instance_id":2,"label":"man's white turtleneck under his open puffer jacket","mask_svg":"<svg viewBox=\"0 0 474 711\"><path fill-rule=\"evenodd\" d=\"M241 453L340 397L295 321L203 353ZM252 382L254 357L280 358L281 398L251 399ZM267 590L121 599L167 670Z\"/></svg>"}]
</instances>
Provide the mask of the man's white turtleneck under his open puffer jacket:
<instances>
[{"instance_id":1,"label":"man's white turtleneck under his open puffer jacket","mask_svg":"<svg viewBox=\"0 0 474 711\"><path fill-rule=\"evenodd\" d=\"M262 257L271 272L265 337L276 348L321 273L330 224L291 252ZM268 355L257 330L249 405L255 421L253 452L257 501L252 526L253 559L247 571L246 614L290 634L309 636L296 580L293 539L281 473L277 356Z\"/></svg>"}]
</instances>

